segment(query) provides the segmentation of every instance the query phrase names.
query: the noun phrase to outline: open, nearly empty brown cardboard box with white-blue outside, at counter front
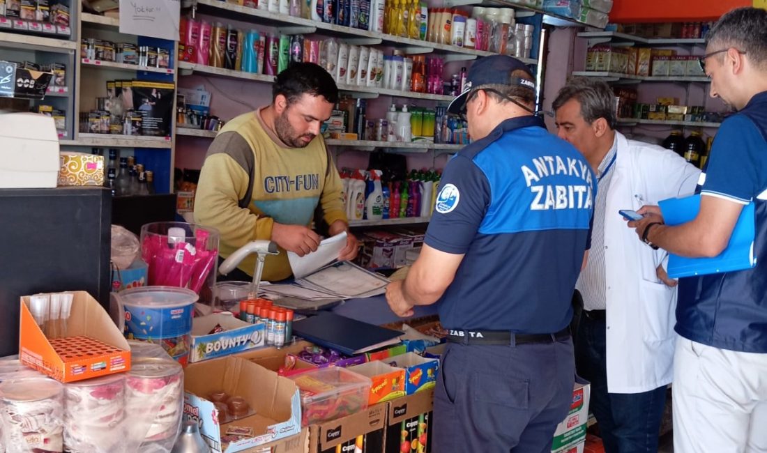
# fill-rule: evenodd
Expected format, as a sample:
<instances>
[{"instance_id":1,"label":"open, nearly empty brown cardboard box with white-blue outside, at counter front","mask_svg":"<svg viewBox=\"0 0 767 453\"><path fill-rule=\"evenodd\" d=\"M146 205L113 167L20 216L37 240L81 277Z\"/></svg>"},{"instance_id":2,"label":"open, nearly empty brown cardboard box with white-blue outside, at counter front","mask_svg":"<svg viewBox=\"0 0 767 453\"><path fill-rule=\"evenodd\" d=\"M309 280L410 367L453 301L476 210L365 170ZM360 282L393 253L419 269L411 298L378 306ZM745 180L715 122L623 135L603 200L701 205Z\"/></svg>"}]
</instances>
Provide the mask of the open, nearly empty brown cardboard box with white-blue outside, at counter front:
<instances>
[{"instance_id":1,"label":"open, nearly empty brown cardboard box with white-blue outside, at counter front","mask_svg":"<svg viewBox=\"0 0 767 453\"><path fill-rule=\"evenodd\" d=\"M242 451L301 432L301 399L295 383L249 360L223 357L192 363L184 370L184 389L184 414L199 423L211 451ZM219 411L207 398L220 391L242 396L255 414L219 425ZM232 425L253 428L255 437L222 445L226 428Z\"/></svg>"}]
</instances>

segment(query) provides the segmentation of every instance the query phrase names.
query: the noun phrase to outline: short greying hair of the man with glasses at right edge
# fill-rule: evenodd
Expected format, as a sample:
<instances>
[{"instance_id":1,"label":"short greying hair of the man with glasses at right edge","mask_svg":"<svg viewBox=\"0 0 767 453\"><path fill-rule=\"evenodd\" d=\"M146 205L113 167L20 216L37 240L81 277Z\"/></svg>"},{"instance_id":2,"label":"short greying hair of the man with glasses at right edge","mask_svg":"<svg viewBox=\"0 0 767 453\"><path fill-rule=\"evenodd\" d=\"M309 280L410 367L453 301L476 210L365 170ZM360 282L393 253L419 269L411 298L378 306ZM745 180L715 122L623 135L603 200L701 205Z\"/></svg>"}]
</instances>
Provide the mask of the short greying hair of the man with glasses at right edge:
<instances>
[{"instance_id":1,"label":"short greying hair of the man with glasses at right edge","mask_svg":"<svg viewBox=\"0 0 767 453\"><path fill-rule=\"evenodd\" d=\"M727 12L706 34L706 45L712 43L746 52L749 61L767 69L767 11L746 7Z\"/></svg>"}]
</instances>

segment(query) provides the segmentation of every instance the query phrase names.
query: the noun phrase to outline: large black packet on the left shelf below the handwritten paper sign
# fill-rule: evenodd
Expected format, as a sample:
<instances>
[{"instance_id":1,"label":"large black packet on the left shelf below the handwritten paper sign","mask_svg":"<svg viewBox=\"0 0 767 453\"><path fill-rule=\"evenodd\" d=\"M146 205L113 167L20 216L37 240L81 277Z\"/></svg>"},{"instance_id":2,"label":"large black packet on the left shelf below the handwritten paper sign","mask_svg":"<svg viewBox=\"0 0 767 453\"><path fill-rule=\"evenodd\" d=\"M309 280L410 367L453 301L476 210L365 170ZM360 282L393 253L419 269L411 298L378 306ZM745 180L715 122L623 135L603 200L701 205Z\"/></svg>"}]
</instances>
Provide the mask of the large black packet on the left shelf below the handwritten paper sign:
<instances>
[{"instance_id":1,"label":"large black packet on the left shelf below the handwritten paper sign","mask_svg":"<svg viewBox=\"0 0 767 453\"><path fill-rule=\"evenodd\" d=\"M141 113L141 135L168 136L170 134L174 87L172 83L133 80L131 88L133 106L136 107L131 107Z\"/></svg>"}]
</instances>

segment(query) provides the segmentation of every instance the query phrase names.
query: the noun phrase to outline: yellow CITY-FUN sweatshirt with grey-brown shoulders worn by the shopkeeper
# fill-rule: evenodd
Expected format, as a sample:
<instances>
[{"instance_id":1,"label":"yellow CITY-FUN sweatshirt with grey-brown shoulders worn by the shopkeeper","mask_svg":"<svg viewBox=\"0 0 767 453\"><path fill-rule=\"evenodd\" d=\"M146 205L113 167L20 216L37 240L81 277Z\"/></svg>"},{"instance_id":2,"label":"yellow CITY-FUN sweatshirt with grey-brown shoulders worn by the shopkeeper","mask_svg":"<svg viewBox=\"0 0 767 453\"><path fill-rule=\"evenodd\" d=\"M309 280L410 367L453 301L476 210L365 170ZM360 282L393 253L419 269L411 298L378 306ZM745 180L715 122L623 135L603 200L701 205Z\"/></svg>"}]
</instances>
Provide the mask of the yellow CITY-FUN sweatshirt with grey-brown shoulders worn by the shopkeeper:
<instances>
[{"instance_id":1,"label":"yellow CITY-FUN sweatshirt with grey-brown shoulders worn by the shopkeeper","mask_svg":"<svg viewBox=\"0 0 767 453\"><path fill-rule=\"evenodd\" d=\"M208 149L195 196L195 222L221 234L219 254L226 258L255 239L271 239L272 225L311 225L318 204L331 225L347 222L341 177L324 140L288 148L268 130L260 111L235 117ZM255 254L239 264L252 275ZM262 280L290 277L288 255L266 258Z\"/></svg>"}]
</instances>

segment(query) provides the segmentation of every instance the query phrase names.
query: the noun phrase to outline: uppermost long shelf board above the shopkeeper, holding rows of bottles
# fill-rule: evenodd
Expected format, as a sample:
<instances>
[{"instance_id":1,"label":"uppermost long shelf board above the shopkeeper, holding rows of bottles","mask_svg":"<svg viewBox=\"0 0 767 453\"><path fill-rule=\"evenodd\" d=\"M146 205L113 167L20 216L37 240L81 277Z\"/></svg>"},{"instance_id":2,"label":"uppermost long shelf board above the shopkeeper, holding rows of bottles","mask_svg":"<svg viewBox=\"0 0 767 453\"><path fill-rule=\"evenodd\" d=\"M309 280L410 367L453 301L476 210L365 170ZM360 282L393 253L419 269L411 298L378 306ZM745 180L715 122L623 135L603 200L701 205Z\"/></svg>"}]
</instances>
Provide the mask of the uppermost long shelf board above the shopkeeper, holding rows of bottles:
<instances>
[{"instance_id":1,"label":"uppermost long shelf board above the shopkeeper, holding rows of bottles","mask_svg":"<svg viewBox=\"0 0 767 453\"><path fill-rule=\"evenodd\" d=\"M320 21L312 21L304 18L295 18L290 15L279 14L275 12L264 11L262 9L249 8L246 6L234 5L229 2L220 2L219 0L197 0L198 11L215 16L224 16L240 21L256 22L262 25L271 25L279 29L288 29L293 33L314 33L328 34L338 38L359 39L360 44L388 44L397 48L403 48L408 51L412 48L412 53L438 53L456 56L456 60L474 59L486 55L492 55L492 52L478 51L476 49L459 48L449 44L437 44L430 41L421 41L419 39L401 38L391 34L377 33L376 31L360 30L357 28L344 27L342 25L328 24ZM303 29L302 29L303 28ZM463 56L463 57L457 57ZM523 58L526 64L538 64L537 60Z\"/></svg>"}]
</instances>

